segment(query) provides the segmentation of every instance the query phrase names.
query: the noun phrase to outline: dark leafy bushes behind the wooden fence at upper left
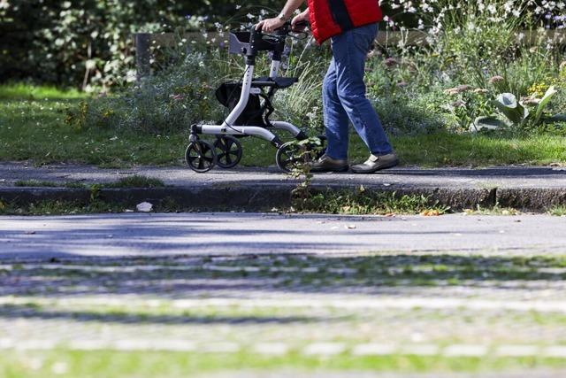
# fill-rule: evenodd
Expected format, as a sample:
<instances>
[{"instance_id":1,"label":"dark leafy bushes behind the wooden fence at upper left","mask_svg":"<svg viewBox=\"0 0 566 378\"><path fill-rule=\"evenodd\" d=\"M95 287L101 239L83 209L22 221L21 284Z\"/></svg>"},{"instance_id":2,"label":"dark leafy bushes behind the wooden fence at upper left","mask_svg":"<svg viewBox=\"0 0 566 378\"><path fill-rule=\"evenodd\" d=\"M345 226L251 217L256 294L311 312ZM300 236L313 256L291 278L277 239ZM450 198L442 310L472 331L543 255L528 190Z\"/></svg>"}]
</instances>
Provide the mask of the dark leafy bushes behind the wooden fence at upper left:
<instances>
[{"instance_id":1,"label":"dark leafy bushes behind the wooden fence at upper left","mask_svg":"<svg viewBox=\"0 0 566 378\"><path fill-rule=\"evenodd\" d=\"M195 29L204 26L204 19L237 19L268 3L258 0L239 11L236 4L240 2L4 0L0 82L32 78L89 89L132 81L134 33Z\"/></svg>"}]
</instances>

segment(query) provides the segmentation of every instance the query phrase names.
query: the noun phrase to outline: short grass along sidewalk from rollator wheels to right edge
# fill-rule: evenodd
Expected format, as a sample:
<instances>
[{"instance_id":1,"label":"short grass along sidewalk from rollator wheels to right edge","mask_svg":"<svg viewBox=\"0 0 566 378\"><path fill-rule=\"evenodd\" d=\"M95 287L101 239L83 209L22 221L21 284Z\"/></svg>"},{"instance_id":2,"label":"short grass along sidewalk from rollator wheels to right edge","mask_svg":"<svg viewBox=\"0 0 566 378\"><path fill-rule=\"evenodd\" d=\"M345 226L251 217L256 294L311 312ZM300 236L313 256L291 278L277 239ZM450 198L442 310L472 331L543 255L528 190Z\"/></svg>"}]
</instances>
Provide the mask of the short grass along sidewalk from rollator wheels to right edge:
<instances>
[{"instance_id":1,"label":"short grass along sidewalk from rollator wheels to right edge","mask_svg":"<svg viewBox=\"0 0 566 378\"><path fill-rule=\"evenodd\" d=\"M566 165L566 138L561 135L470 135L438 132L430 135L393 136L403 166L501 166L549 164ZM244 141L244 166L269 166L275 150L257 139ZM363 162L369 155L357 135L349 146L351 162Z\"/></svg>"}]
</instances>

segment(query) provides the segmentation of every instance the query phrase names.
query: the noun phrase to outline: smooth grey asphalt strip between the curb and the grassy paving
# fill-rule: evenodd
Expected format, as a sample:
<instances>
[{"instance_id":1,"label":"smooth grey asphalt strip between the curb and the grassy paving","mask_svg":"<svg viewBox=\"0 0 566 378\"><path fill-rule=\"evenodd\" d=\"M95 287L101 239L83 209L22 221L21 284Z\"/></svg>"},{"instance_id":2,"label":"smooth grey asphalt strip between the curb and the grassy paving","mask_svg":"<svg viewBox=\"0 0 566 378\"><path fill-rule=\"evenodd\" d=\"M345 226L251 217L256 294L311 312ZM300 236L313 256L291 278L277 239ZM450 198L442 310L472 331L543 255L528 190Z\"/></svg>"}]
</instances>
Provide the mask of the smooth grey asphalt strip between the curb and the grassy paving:
<instances>
[{"instance_id":1,"label":"smooth grey asphalt strip between the curb and the grassy paving","mask_svg":"<svg viewBox=\"0 0 566 378\"><path fill-rule=\"evenodd\" d=\"M0 258L502 251L564 253L566 220L547 215L353 217L125 213L0 217Z\"/></svg>"}]
</instances>

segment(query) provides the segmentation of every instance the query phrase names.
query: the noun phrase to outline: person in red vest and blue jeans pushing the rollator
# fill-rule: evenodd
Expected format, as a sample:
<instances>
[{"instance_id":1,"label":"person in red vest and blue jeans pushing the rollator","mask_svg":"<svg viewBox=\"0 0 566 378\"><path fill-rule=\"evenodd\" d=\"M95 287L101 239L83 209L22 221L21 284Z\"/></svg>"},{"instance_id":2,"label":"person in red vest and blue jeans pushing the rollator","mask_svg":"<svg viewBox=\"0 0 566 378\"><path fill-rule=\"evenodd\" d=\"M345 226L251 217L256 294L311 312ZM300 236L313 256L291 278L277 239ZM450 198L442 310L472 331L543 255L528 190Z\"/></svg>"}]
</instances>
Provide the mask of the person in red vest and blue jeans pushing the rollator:
<instances>
[{"instance_id":1,"label":"person in red vest and blue jeans pushing the rollator","mask_svg":"<svg viewBox=\"0 0 566 378\"><path fill-rule=\"evenodd\" d=\"M272 33L291 19L307 1L306 11L294 16L295 26L309 21L318 43L331 40L333 59L323 84L325 155L311 164L311 172L346 172L372 174L399 164L387 139L379 116L366 97L365 59L378 34L383 19L379 0L287 0L283 11L264 19L257 30ZM370 150L363 164L348 166L349 122Z\"/></svg>"}]
</instances>

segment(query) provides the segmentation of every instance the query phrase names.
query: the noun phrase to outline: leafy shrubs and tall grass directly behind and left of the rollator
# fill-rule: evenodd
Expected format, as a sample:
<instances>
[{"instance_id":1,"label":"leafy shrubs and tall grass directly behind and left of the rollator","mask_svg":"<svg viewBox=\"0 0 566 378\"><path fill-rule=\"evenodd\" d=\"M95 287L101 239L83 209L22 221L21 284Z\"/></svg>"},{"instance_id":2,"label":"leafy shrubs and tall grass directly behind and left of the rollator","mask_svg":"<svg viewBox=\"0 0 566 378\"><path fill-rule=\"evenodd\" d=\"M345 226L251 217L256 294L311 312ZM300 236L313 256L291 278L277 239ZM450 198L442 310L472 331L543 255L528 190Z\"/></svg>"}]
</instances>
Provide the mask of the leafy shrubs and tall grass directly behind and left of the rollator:
<instances>
[{"instance_id":1,"label":"leafy shrubs and tall grass directly behind and left of the rollator","mask_svg":"<svg viewBox=\"0 0 566 378\"><path fill-rule=\"evenodd\" d=\"M326 53L302 43L296 43L294 48L311 51L297 54L303 58L294 56L283 67L287 70L284 74L298 77L300 81L277 93L274 98L277 112L272 119L288 120L320 131ZM222 81L241 80L242 58L229 56L226 48L183 54L179 50L182 47L172 51L172 56L182 56L182 61L128 89L111 96L99 96L76 110L69 110L67 123L77 128L111 127L164 135L188 130L194 123L221 122L227 110L218 104L214 92ZM267 57L258 58L256 73L268 72L269 63Z\"/></svg>"}]
</instances>

